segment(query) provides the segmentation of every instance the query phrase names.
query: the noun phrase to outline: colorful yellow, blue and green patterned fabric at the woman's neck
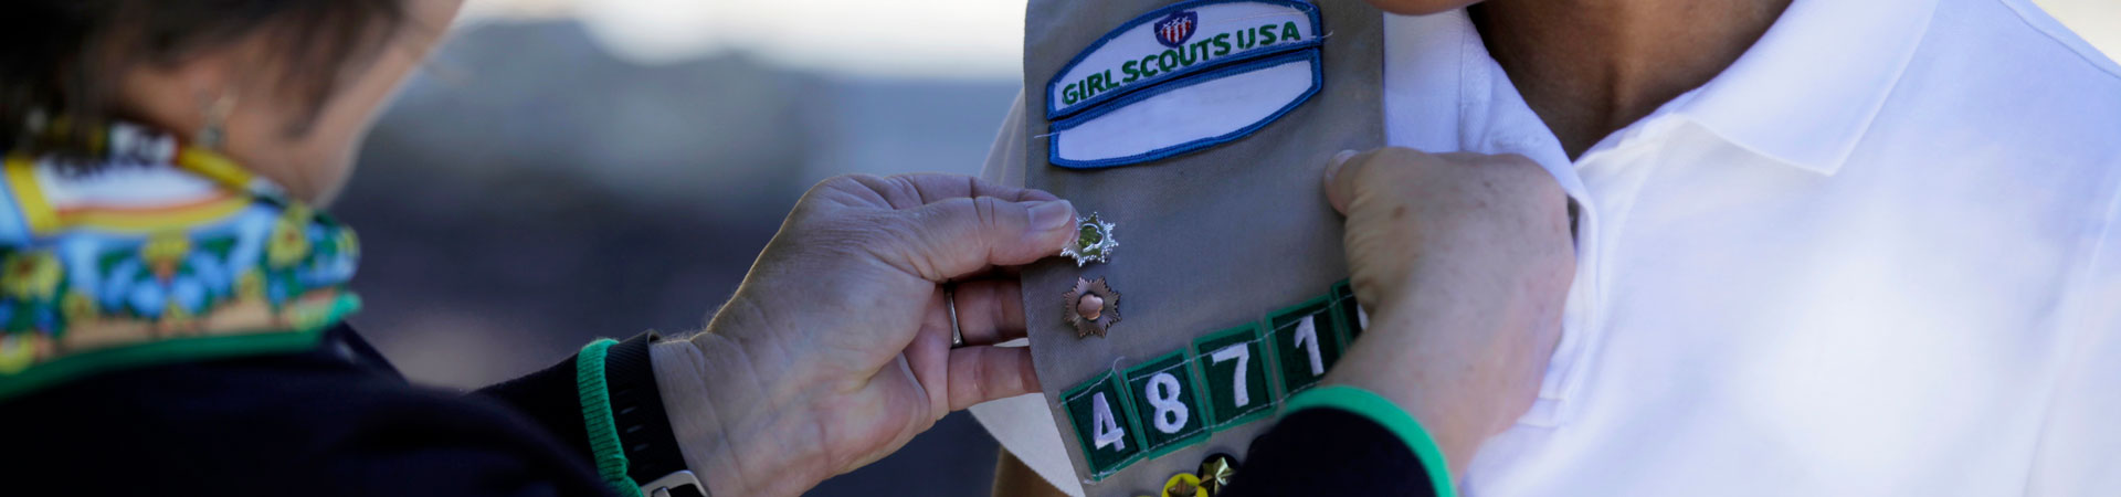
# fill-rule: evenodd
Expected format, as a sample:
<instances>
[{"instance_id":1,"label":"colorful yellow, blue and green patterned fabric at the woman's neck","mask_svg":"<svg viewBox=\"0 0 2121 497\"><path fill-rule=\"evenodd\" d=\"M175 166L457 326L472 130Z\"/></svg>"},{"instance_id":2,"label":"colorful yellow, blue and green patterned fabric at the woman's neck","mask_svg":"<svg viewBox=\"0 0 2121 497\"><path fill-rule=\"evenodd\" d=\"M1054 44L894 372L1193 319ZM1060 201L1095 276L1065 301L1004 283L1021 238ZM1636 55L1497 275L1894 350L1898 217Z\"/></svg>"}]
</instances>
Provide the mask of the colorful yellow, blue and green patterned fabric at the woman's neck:
<instances>
[{"instance_id":1,"label":"colorful yellow, blue and green patterned fabric at the woman's neck","mask_svg":"<svg viewBox=\"0 0 2121 497\"><path fill-rule=\"evenodd\" d=\"M354 232L235 161L112 125L91 161L8 153L0 399L85 374L314 348L361 299Z\"/></svg>"}]
</instances>

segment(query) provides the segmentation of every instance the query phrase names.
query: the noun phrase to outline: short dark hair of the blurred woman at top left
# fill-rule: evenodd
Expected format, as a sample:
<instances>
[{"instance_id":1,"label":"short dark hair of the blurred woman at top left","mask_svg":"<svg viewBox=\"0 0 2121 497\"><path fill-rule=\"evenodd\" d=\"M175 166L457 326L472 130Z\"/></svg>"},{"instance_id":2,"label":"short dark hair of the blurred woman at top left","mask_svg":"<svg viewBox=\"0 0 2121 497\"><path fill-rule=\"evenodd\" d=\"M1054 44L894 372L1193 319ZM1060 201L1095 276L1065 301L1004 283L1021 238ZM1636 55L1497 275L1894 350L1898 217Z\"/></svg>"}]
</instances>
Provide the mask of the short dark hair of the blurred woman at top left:
<instances>
[{"instance_id":1,"label":"short dark hair of the blurred woman at top left","mask_svg":"<svg viewBox=\"0 0 2121 497\"><path fill-rule=\"evenodd\" d=\"M180 64L255 34L274 36L280 89L310 119L356 59L405 23L405 0L8 0L0 6L0 151L93 153L117 79L142 64ZM64 117L34 134L32 115ZM288 130L305 132L308 123Z\"/></svg>"}]
</instances>

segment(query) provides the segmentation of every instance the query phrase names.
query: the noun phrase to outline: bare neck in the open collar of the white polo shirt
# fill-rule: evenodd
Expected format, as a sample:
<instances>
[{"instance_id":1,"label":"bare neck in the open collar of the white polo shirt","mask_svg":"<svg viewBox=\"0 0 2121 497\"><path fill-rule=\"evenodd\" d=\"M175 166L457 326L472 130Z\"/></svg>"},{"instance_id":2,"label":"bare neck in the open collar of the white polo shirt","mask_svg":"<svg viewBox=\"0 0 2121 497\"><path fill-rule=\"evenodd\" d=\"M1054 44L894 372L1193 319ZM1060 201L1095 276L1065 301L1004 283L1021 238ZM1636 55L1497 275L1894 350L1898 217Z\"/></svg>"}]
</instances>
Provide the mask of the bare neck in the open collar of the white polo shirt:
<instances>
[{"instance_id":1,"label":"bare neck in the open collar of the white polo shirt","mask_svg":"<svg viewBox=\"0 0 2121 497\"><path fill-rule=\"evenodd\" d=\"M1790 0L1489 0L1487 51L1580 157L1737 62Z\"/></svg>"}]
</instances>

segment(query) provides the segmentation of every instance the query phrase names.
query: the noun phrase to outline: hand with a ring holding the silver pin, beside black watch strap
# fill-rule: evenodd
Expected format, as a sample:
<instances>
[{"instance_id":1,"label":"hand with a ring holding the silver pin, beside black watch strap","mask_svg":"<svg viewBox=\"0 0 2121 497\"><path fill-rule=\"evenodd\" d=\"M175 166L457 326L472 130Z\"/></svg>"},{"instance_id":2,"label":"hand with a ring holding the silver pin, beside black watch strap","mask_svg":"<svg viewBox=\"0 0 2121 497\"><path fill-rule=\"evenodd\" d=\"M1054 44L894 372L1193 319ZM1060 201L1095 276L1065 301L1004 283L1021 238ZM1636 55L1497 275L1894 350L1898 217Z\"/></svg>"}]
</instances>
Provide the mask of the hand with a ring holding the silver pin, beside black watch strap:
<instances>
[{"instance_id":1,"label":"hand with a ring holding the silver pin, beside black watch strap","mask_svg":"<svg viewBox=\"0 0 2121 497\"><path fill-rule=\"evenodd\" d=\"M1037 391L1010 265L1056 255L1069 202L967 176L840 176L812 187L736 295L691 338L721 438L715 495L800 495L971 404ZM967 346L950 348L957 280ZM738 367L740 365L740 367Z\"/></svg>"}]
</instances>

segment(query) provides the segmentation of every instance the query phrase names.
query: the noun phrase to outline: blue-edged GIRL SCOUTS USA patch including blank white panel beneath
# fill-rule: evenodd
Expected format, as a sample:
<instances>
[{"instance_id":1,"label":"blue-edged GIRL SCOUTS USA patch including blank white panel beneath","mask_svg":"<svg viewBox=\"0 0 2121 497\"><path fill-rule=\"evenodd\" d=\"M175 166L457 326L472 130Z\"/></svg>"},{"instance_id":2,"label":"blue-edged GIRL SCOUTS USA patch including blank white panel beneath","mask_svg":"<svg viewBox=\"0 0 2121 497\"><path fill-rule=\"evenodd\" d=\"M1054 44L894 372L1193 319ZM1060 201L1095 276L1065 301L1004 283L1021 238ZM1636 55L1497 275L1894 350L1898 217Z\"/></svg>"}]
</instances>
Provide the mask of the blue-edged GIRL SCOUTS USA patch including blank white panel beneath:
<instances>
[{"instance_id":1,"label":"blue-edged GIRL SCOUTS USA patch including blank white panel beneath","mask_svg":"<svg viewBox=\"0 0 2121 497\"><path fill-rule=\"evenodd\" d=\"M1192 0L1090 42L1046 85L1050 161L1111 168L1243 138L1317 93L1324 28L1292 0Z\"/></svg>"}]
</instances>

